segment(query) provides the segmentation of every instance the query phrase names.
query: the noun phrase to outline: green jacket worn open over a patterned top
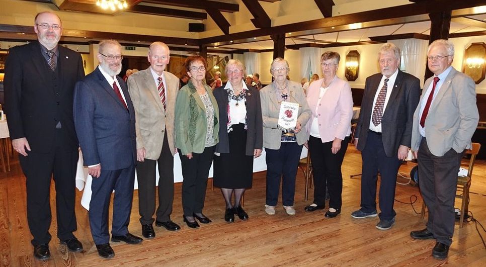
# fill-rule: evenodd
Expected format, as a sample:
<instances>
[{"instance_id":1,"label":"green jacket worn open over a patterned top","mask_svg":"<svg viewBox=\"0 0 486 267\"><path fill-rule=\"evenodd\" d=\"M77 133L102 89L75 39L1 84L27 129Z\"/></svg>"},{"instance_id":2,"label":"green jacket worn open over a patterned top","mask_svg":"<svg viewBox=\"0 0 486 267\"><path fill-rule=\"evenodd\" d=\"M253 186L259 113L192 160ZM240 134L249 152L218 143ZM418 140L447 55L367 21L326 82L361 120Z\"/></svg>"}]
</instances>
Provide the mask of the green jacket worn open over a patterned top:
<instances>
[{"instance_id":1,"label":"green jacket worn open over a patterned top","mask_svg":"<svg viewBox=\"0 0 486 267\"><path fill-rule=\"evenodd\" d=\"M207 84L204 87L214 107L213 138L215 143L218 143L218 104L216 103L211 87ZM175 115L176 147L181 149L183 155L202 153L206 144L206 109L191 81L183 86L177 94Z\"/></svg>"}]
</instances>

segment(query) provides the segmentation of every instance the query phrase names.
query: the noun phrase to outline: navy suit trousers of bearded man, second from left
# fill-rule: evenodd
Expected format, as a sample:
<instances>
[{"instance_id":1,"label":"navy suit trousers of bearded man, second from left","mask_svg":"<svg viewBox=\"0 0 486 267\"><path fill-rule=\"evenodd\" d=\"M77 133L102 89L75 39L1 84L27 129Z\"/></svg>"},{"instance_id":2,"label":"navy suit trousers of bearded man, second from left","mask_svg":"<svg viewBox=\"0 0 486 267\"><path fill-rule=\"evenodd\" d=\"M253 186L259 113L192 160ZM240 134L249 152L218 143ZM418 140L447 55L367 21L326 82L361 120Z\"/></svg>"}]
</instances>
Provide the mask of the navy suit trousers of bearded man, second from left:
<instances>
[{"instance_id":1,"label":"navy suit trousers of bearded man, second from left","mask_svg":"<svg viewBox=\"0 0 486 267\"><path fill-rule=\"evenodd\" d=\"M126 235L128 233L134 184L135 165L124 169L103 170L102 164L100 177L93 177L89 218L91 235L95 244L110 242L108 209L113 190L115 190L115 196L113 197L111 233L113 235Z\"/></svg>"}]
</instances>

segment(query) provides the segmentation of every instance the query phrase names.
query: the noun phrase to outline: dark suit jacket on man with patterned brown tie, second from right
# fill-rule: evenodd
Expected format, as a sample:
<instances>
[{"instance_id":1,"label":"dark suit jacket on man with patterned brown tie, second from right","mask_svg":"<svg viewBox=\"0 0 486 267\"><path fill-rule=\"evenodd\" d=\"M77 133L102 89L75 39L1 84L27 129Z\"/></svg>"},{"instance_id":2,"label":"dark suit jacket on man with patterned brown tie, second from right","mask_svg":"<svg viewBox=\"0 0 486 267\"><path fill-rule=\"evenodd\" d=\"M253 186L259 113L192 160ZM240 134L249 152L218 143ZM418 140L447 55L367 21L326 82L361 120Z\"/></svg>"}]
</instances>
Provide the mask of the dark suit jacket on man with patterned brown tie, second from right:
<instances>
[{"instance_id":1,"label":"dark suit jacket on man with patterned brown tie, second from right","mask_svg":"<svg viewBox=\"0 0 486 267\"><path fill-rule=\"evenodd\" d=\"M358 149L363 150L373 112L373 101L381 81L381 73L366 78L363 101L356 126ZM398 70L390 99L381 119L383 148L388 157L396 156L400 145L411 146L414 111L420 98L420 80Z\"/></svg>"}]
</instances>

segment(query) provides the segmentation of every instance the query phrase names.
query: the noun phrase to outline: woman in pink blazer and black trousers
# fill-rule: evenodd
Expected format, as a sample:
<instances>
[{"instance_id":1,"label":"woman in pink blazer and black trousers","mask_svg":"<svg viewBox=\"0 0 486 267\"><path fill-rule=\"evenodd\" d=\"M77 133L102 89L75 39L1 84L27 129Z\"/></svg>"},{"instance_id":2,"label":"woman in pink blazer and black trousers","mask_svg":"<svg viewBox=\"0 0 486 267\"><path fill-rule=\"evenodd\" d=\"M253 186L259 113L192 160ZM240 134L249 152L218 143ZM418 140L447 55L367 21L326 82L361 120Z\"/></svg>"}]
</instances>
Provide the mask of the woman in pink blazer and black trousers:
<instances>
[{"instance_id":1,"label":"woman in pink blazer and black trousers","mask_svg":"<svg viewBox=\"0 0 486 267\"><path fill-rule=\"evenodd\" d=\"M310 151L314 176L314 202L306 211L325 208L326 186L329 190L329 210L324 215L334 218L341 213L343 175L341 164L351 135L353 98L347 81L336 76L340 56L325 52L320 57L323 78L310 84L307 102L312 117L307 123L310 133L307 147Z\"/></svg>"}]
</instances>

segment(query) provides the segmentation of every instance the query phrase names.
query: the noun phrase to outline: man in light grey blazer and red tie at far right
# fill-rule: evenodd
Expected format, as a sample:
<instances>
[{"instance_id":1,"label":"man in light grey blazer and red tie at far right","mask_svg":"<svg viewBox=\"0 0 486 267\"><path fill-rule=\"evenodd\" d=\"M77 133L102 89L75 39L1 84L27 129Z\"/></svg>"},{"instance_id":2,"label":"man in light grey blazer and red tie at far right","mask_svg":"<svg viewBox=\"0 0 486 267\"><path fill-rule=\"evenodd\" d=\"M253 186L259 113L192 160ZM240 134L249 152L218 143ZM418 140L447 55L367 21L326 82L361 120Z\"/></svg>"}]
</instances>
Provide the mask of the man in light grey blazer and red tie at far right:
<instances>
[{"instance_id":1,"label":"man in light grey blazer and red tie at far right","mask_svg":"<svg viewBox=\"0 0 486 267\"><path fill-rule=\"evenodd\" d=\"M410 235L435 238L432 256L437 259L447 257L452 243L457 172L479 121L474 81L451 66L453 59L450 41L439 39L430 44L427 64L434 76L425 81L412 132L429 220L427 228Z\"/></svg>"}]
</instances>

